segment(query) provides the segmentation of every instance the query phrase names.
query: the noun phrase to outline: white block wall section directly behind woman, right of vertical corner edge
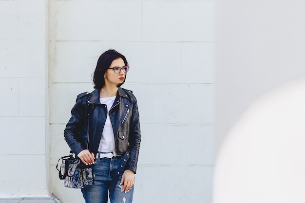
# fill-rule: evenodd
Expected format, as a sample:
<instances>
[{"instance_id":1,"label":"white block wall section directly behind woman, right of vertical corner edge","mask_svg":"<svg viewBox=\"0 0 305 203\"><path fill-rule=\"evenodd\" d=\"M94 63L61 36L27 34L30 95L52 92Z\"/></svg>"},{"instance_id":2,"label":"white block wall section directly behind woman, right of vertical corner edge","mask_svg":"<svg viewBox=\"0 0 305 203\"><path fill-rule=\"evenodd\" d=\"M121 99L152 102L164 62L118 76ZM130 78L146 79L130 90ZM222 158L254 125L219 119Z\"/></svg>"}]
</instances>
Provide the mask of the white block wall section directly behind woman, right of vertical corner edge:
<instances>
[{"instance_id":1,"label":"white block wall section directly behind woman, right of vertical corner edge","mask_svg":"<svg viewBox=\"0 0 305 203\"><path fill-rule=\"evenodd\" d=\"M63 129L97 58L114 48L131 69L142 145L134 203L211 203L214 164L214 2L50 0L51 168L69 149ZM83 202L50 170L63 203Z\"/></svg>"}]
</instances>

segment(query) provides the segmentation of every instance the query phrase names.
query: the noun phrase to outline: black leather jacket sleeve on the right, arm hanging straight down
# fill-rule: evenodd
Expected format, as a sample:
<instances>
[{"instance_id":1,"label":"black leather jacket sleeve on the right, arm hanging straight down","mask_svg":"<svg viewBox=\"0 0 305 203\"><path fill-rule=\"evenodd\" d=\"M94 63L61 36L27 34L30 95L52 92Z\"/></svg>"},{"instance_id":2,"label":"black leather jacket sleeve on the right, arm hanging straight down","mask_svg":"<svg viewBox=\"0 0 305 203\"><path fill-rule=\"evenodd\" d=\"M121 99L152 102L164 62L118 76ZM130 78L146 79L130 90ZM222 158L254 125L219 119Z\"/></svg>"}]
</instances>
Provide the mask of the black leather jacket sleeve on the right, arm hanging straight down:
<instances>
[{"instance_id":1,"label":"black leather jacket sleeve on the right, arm hanging straight down","mask_svg":"<svg viewBox=\"0 0 305 203\"><path fill-rule=\"evenodd\" d=\"M129 150L130 158L127 162L126 169L132 170L136 173L136 167L139 156L139 149L141 143L141 132L140 132L140 118L138 112L138 106L136 98L133 96L133 111L129 127Z\"/></svg>"}]
</instances>

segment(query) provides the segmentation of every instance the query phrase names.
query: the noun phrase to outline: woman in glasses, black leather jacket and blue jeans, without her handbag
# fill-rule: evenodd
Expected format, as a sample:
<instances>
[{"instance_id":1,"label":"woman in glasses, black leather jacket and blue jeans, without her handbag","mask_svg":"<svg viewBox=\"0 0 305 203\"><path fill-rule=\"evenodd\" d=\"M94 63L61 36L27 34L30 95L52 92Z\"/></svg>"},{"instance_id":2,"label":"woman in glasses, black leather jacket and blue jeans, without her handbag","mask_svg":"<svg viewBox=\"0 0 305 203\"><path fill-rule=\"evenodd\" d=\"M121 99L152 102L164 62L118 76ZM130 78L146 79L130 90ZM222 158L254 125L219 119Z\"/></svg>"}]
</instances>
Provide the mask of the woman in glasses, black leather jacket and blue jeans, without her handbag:
<instances>
[{"instance_id":1,"label":"woman in glasses, black leather jacket and blue jeans, without her handbag","mask_svg":"<svg viewBox=\"0 0 305 203\"><path fill-rule=\"evenodd\" d=\"M86 203L132 203L141 135L136 98L124 84L129 70L124 55L108 50L100 55L91 93L79 94L64 130L71 150L93 165L94 185L82 194Z\"/></svg>"}]
</instances>

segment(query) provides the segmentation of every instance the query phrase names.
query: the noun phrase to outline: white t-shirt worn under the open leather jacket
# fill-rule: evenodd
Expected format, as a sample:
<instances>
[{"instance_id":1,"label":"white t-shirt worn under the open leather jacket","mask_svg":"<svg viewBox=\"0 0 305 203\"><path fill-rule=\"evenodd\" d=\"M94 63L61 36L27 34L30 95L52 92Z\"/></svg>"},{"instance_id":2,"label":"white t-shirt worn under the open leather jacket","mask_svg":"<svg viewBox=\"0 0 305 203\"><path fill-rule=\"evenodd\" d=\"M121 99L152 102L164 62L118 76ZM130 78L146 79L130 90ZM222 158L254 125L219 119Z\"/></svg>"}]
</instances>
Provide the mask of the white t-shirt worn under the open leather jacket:
<instances>
[{"instance_id":1,"label":"white t-shirt worn under the open leather jacket","mask_svg":"<svg viewBox=\"0 0 305 203\"><path fill-rule=\"evenodd\" d=\"M115 100L115 96L99 98L101 104L107 105L107 119L102 132L102 138L99 142L98 151L100 152L113 152L114 151L114 130L109 117L109 110L111 109Z\"/></svg>"}]
</instances>

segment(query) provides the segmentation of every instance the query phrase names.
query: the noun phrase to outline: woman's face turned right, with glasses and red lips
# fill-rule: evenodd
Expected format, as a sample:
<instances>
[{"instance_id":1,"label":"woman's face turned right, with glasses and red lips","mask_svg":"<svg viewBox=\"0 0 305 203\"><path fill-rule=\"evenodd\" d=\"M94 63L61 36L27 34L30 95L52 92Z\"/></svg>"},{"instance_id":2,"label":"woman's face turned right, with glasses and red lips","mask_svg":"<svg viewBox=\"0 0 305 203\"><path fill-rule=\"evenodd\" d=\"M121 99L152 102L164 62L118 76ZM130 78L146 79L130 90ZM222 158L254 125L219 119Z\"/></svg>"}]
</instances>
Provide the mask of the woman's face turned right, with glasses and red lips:
<instances>
[{"instance_id":1,"label":"woman's face turned right, with glasses and red lips","mask_svg":"<svg viewBox=\"0 0 305 203\"><path fill-rule=\"evenodd\" d=\"M111 65L109 68L113 67L123 67L125 66L125 63L122 58L116 58L112 61ZM116 74L114 73L113 69L107 69L105 72L105 86L107 85L115 85L117 86L118 84L121 84L125 80L126 73L123 72L123 70L120 71L120 73Z\"/></svg>"}]
</instances>

